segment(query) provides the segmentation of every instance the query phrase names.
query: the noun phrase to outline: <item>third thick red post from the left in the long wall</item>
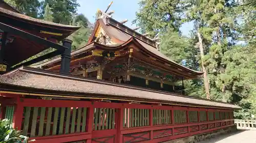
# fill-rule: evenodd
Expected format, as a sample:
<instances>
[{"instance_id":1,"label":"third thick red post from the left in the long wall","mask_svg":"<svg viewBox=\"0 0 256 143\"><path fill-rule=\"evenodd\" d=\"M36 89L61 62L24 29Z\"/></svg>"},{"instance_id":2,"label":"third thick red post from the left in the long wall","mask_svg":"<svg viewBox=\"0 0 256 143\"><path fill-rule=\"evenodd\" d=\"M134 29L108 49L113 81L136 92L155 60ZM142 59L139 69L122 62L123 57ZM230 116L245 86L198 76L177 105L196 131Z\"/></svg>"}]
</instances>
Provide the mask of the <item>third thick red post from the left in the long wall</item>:
<instances>
[{"instance_id":1,"label":"third thick red post from the left in the long wall","mask_svg":"<svg viewBox=\"0 0 256 143\"><path fill-rule=\"evenodd\" d=\"M122 143L123 135L121 134L121 130L123 128L123 110L124 108L118 109L117 114L117 142ZM125 114L126 115L126 114ZM129 122L126 121L126 124L129 124Z\"/></svg>"}]
</instances>

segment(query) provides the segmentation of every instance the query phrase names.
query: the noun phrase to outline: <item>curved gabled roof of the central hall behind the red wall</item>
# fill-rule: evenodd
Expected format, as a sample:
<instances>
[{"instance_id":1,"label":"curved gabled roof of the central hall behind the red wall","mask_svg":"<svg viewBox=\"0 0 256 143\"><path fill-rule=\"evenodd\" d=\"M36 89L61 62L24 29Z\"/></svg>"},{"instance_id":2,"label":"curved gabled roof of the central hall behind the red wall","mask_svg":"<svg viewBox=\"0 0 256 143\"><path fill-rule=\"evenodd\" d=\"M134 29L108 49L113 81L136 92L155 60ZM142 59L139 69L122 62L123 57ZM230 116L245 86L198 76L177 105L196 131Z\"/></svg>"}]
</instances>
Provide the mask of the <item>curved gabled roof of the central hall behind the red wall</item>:
<instances>
[{"instance_id":1,"label":"curved gabled roof of the central hall behind the red wall","mask_svg":"<svg viewBox=\"0 0 256 143\"><path fill-rule=\"evenodd\" d=\"M103 33L110 38L112 44L99 44L95 42L95 39L99 35L99 31L103 31ZM196 78L203 74L201 71L191 70L170 60L156 48L155 42L152 39L146 38L145 36L133 31L131 28L108 16L99 18L96 21L94 31L88 44L80 49L72 51L71 55L72 59L75 59L77 55L85 53L96 47L103 50L119 50L124 48L124 46L131 44L135 44L139 48L138 50L142 51L146 56L150 56L156 61L161 61L161 63L166 63L172 68L188 73L188 75L191 75L189 78ZM60 57L33 67L38 68L41 66L50 68L56 64L58 65L59 62Z\"/></svg>"}]
</instances>

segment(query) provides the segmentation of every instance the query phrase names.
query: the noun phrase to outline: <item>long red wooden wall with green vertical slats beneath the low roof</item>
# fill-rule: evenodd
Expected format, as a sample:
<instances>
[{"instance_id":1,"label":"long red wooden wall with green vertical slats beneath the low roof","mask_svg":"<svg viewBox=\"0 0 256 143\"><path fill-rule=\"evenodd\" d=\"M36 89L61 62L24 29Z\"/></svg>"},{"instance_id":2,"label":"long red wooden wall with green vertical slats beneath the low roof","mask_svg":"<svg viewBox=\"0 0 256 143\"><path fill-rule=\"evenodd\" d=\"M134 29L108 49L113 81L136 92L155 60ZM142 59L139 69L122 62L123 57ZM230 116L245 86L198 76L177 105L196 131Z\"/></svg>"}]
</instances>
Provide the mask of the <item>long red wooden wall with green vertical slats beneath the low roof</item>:
<instances>
[{"instance_id":1,"label":"long red wooden wall with green vertical slats beneath the low roof","mask_svg":"<svg viewBox=\"0 0 256 143\"><path fill-rule=\"evenodd\" d=\"M232 110L213 108L20 98L2 109L35 143L154 143L234 126Z\"/></svg>"}]
</instances>

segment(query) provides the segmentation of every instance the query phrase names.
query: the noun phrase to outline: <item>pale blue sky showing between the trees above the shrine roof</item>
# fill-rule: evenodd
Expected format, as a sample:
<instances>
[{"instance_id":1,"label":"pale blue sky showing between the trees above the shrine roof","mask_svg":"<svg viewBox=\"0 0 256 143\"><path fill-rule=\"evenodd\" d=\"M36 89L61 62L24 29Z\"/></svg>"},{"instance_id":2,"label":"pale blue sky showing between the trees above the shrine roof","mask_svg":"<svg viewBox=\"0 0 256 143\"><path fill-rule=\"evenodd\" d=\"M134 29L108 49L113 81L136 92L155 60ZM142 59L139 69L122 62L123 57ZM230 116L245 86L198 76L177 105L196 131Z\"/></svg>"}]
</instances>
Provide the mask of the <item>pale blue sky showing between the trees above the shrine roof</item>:
<instances>
[{"instance_id":1,"label":"pale blue sky showing between the trees above the shrine roof","mask_svg":"<svg viewBox=\"0 0 256 143\"><path fill-rule=\"evenodd\" d=\"M112 6L109 11L114 10L113 18L117 21L121 21L124 19L128 19L129 21L125 23L125 25L129 27L136 27L135 24L132 25L132 21L135 19L135 13L139 10L140 0L116 0L113 1ZM80 4L78 8L78 13L84 14L90 22L94 23L94 16L97 9L105 11L111 0L77 0ZM193 24L185 23L181 27L182 34L188 36L189 30L193 28Z\"/></svg>"}]
</instances>

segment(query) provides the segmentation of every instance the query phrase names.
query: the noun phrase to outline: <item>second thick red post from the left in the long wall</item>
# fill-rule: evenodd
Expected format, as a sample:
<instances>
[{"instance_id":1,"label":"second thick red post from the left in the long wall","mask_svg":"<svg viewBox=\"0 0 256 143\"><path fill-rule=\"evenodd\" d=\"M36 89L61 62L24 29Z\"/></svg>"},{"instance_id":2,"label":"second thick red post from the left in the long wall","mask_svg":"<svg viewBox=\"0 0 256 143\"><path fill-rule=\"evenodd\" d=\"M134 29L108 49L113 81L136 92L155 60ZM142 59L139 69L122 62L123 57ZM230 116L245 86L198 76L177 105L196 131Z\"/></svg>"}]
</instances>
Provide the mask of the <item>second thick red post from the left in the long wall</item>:
<instances>
[{"instance_id":1,"label":"second thick red post from the left in the long wall","mask_svg":"<svg viewBox=\"0 0 256 143\"><path fill-rule=\"evenodd\" d=\"M88 116L87 116L87 126L86 126L86 130L88 133L90 133L92 135L92 131L93 131L93 120L94 119L94 107L91 106L89 107L89 111L88 111ZM86 140L86 143L91 143L92 142L92 138L89 138Z\"/></svg>"}]
</instances>

